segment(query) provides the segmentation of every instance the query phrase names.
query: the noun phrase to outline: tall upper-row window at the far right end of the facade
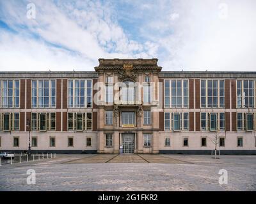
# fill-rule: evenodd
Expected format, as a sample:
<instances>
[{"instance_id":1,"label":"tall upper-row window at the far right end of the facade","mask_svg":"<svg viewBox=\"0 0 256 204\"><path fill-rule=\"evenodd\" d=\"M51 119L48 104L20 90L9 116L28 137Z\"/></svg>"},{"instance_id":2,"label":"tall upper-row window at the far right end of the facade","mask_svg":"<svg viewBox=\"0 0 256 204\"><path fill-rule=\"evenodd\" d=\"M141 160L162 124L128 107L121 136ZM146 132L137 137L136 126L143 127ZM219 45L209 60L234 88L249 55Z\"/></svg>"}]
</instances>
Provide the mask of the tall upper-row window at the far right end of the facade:
<instances>
[{"instance_id":1,"label":"tall upper-row window at the far right end of the facade","mask_svg":"<svg viewBox=\"0 0 256 204\"><path fill-rule=\"evenodd\" d=\"M254 88L253 80L237 80L237 108L254 107Z\"/></svg>"}]
</instances>

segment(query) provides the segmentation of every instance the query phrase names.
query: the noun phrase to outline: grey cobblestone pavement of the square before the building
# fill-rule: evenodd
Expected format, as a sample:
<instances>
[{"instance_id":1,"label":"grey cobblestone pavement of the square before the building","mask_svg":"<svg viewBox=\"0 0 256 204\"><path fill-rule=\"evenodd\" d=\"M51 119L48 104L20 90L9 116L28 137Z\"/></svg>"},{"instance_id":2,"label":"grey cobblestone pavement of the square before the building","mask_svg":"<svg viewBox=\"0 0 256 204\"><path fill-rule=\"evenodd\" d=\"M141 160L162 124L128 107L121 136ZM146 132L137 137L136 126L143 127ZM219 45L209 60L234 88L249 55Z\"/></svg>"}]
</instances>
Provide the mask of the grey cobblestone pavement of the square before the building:
<instances>
[{"instance_id":1,"label":"grey cobblestone pavement of the square before the building","mask_svg":"<svg viewBox=\"0 0 256 204\"><path fill-rule=\"evenodd\" d=\"M65 154L0 166L0 191L255 191L255 168L256 156ZM26 183L29 169L35 185ZM218 182L220 169L227 185Z\"/></svg>"}]
</instances>

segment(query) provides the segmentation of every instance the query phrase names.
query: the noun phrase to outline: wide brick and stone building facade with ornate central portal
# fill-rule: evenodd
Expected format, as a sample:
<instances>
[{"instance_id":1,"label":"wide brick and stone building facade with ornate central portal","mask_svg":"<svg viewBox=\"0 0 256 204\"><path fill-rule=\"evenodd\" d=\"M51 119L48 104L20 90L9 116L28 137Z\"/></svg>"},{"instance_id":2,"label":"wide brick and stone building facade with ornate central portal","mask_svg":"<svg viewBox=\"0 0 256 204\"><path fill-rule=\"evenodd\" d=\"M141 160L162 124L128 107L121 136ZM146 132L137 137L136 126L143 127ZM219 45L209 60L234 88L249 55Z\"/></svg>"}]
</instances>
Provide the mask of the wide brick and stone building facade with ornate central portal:
<instances>
[{"instance_id":1,"label":"wide brick and stone building facade with ornate central portal","mask_svg":"<svg viewBox=\"0 0 256 204\"><path fill-rule=\"evenodd\" d=\"M256 154L256 72L161 69L0 72L0 151Z\"/></svg>"}]
</instances>

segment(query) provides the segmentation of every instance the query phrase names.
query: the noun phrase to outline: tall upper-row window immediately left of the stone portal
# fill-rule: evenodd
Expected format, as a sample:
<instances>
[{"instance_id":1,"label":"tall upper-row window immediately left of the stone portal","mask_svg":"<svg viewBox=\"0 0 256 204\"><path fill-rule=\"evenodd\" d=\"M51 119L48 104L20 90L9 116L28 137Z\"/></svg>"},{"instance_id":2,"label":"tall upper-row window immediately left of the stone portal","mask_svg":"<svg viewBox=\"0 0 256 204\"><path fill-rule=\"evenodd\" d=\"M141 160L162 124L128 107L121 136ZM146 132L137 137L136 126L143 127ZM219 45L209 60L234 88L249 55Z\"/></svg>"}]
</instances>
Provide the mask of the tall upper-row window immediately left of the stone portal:
<instances>
[{"instance_id":1,"label":"tall upper-row window immediately left of the stone portal","mask_svg":"<svg viewBox=\"0 0 256 204\"><path fill-rule=\"evenodd\" d=\"M68 80L68 108L92 108L92 80Z\"/></svg>"}]
</instances>

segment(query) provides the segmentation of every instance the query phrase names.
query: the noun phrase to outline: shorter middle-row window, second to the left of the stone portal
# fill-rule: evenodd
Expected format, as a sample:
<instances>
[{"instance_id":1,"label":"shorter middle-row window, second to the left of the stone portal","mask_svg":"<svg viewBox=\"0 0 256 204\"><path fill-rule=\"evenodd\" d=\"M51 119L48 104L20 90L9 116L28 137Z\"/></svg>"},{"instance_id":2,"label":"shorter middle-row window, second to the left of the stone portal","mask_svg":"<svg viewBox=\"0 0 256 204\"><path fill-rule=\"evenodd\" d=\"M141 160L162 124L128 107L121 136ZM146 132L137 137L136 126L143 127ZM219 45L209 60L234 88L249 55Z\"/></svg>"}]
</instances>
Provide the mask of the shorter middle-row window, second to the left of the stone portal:
<instances>
[{"instance_id":1,"label":"shorter middle-row window, second to the left of the stone portal","mask_svg":"<svg viewBox=\"0 0 256 204\"><path fill-rule=\"evenodd\" d=\"M55 131L56 113L31 113L31 131Z\"/></svg>"}]
</instances>

